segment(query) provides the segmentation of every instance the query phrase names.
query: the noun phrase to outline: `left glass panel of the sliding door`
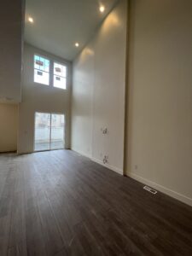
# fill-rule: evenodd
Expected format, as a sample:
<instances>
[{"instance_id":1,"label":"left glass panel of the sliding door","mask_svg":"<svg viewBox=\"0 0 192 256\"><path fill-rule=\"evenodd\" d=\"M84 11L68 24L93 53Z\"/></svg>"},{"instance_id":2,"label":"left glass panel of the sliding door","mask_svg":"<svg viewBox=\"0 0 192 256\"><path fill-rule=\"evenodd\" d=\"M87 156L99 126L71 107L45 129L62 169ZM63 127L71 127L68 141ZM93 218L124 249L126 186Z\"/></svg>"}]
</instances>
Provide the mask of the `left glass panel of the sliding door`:
<instances>
[{"instance_id":1,"label":"left glass panel of the sliding door","mask_svg":"<svg viewBox=\"0 0 192 256\"><path fill-rule=\"evenodd\" d=\"M35 113L35 151L49 150L50 113Z\"/></svg>"}]
</instances>

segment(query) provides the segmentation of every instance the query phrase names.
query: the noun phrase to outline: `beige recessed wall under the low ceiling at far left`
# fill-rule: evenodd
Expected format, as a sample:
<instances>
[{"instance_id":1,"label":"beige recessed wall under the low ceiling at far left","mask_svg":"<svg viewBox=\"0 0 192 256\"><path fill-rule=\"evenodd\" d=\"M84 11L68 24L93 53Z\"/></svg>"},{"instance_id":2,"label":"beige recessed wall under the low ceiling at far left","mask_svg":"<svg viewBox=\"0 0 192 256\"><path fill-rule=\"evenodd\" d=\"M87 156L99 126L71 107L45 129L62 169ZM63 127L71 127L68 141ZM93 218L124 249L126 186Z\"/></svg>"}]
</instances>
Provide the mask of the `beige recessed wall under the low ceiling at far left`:
<instances>
[{"instance_id":1,"label":"beige recessed wall under the low ceiling at far left","mask_svg":"<svg viewBox=\"0 0 192 256\"><path fill-rule=\"evenodd\" d=\"M18 106L0 104L0 152L17 149Z\"/></svg>"}]
</instances>

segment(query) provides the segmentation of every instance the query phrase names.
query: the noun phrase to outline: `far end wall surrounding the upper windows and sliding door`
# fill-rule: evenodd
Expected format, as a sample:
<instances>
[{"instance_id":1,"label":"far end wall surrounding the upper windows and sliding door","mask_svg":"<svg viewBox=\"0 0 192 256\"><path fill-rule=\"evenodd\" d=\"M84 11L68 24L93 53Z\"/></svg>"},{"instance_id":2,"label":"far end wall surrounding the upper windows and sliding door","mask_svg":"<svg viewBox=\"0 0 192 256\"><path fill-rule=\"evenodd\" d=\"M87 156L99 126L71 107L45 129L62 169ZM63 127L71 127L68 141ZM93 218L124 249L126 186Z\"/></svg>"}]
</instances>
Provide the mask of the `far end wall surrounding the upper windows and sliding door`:
<instances>
[{"instance_id":1,"label":"far end wall surrounding the upper windows and sliding door","mask_svg":"<svg viewBox=\"0 0 192 256\"><path fill-rule=\"evenodd\" d=\"M33 82L34 54L67 65L67 90ZM52 79L52 78L51 78ZM50 79L50 80L51 80ZM19 104L18 153L33 152L35 112L64 113L66 120L65 147L70 146L71 112L71 62L50 55L41 49L25 44L24 72L22 78L22 102Z\"/></svg>"}]
</instances>

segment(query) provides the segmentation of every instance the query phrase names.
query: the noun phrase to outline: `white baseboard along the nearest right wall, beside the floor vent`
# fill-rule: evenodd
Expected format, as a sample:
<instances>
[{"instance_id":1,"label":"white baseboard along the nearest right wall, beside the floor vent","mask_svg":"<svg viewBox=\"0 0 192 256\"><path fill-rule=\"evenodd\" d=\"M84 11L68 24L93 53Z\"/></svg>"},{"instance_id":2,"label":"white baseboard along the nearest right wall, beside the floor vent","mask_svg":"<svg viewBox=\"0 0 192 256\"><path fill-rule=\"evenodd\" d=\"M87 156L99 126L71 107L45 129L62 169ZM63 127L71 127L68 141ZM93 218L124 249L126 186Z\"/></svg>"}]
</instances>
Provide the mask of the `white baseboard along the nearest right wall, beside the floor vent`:
<instances>
[{"instance_id":1,"label":"white baseboard along the nearest right wall, beside the floor vent","mask_svg":"<svg viewBox=\"0 0 192 256\"><path fill-rule=\"evenodd\" d=\"M166 195L170 195L173 198L177 199L178 201L182 201L183 203L186 203L187 205L192 207L192 199L186 195L179 194L176 191L173 191L172 189L167 189L166 187L161 186L160 184L154 183L144 177L140 177L137 174L134 174L131 172L129 174L127 174L127 176L129 176L133 179L136 179L138 182L144 183L154 189L157 189Z\"/></svg>"}]
</instances>

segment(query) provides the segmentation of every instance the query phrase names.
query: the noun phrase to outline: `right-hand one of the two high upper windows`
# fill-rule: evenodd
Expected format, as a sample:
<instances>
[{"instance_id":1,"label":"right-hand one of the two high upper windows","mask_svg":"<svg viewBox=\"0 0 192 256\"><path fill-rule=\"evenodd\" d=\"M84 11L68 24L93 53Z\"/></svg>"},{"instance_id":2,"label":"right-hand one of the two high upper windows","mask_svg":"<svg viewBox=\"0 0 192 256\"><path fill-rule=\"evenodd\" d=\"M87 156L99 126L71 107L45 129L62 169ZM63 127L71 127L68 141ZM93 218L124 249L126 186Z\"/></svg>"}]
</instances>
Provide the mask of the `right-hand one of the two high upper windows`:
<instances>
[{"instance_id":1,"label":"right-hand one of the two high upper windows","mask_svg":"<svg viewBox=\"0 0 192 256\"><path fill-rule=\"evenodd\" d=\"M54 87L66 89L67 67L54 62Z\"/></svg>"}]
</instances>

